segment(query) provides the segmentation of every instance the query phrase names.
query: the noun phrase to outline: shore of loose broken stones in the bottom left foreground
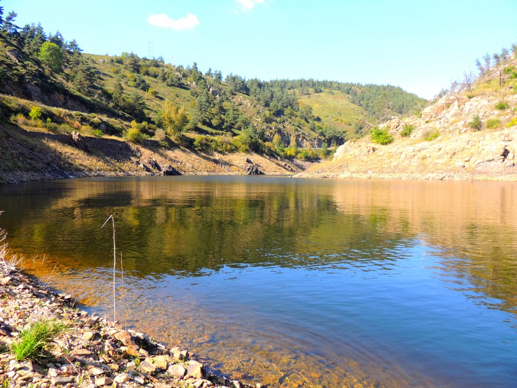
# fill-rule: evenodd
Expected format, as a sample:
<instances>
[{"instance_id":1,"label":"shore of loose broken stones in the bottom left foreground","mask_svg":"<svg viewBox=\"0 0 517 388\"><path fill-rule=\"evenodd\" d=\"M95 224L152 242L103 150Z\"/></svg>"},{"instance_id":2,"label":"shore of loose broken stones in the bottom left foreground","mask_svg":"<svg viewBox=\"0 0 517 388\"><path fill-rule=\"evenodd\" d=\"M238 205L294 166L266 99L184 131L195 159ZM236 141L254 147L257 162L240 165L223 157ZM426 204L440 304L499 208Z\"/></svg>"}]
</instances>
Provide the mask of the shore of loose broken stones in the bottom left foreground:
<instances>
[{"instance_id":1,"label":"shore of loose broken stones in the bottom left foreground","mask_svg":"<svg viewBox=\"0 0 517 388\"><path fill-rule=\"evenodd\" d=\"M11 345L23 330L45 321L64 330L48 341L39 356L17 360ZM144 333L124 330L117 322L75 308L71 295L56 294L22 272L0 272L0 384L6 388L251 388L212 373L188 350L168 349Z\"/></svg>"}]
</instances>

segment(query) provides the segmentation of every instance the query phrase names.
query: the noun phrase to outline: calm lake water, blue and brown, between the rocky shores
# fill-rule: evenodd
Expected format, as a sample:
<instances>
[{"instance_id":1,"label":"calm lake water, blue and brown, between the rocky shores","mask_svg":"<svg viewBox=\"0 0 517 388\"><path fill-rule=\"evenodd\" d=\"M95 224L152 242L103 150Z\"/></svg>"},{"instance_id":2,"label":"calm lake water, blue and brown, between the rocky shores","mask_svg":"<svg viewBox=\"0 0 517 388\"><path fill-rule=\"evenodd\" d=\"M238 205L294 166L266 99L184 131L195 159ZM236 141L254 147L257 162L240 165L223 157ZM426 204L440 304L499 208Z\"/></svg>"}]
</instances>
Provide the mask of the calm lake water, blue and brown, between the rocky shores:
<instances>
[{"instance_id":1,"label":"calm lake water, blue and brown, between the rocky shores","mask_svg":"<svg viewBox=\"0 0 517 388\"><path fill-rule=\"evenodd\" d=\"M28 271L108 317L113 214L128 325L234 378L517 386L515 183L103 178L0 210Z\"/></svg>"}]
</instances>

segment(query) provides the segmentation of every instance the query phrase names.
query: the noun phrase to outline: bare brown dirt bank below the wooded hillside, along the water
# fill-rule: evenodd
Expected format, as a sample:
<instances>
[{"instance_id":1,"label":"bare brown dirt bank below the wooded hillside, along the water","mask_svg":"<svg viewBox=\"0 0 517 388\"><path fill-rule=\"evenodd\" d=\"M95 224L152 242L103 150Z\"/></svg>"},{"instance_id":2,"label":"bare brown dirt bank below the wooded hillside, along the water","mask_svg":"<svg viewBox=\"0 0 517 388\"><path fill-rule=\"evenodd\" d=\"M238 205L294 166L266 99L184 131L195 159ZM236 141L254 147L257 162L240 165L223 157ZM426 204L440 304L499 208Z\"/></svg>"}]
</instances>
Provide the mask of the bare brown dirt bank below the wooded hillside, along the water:
<instances>
[{"instance_id":1,"label":"bare brown dirt bank below the wooded hillside, along the water","mask_svg":"<svg viewBox=\"0 0 517 388\"><path fill-rule=\"evenodd\" d=\"M71 136L0 125L0 184L85 176L247 174L250 164L265 174L294 174L302 165L258 154L195 153L165 148L147 140L140 144L85 137L89 152ZM252 163L250 163L250 161Z\"/></svg>"}]
</instances>

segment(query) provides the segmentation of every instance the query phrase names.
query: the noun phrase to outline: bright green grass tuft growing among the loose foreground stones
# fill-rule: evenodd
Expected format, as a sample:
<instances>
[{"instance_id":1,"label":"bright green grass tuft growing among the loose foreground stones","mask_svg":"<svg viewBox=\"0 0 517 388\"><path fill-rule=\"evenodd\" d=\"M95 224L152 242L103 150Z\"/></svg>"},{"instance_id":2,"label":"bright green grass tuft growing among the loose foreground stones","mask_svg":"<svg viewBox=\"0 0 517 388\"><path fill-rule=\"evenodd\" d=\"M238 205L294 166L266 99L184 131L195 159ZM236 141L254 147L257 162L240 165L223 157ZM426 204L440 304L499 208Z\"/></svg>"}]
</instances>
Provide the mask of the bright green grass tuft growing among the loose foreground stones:
<instances>
[{"instance_id":1,"label":"bright green grass tuft growing among the loose foreground stones","mask_svg":"<svg viewBox=\"0 0 517 388\"><path fill-rule=\"evenodd\" d=\"M41 356L41 351L59 333L66 330L66 325L56 321L38 321L28 329L22 330L18 340L11 346L11 351L16 355L16 360Z\"/></svg>"}]
</instances>

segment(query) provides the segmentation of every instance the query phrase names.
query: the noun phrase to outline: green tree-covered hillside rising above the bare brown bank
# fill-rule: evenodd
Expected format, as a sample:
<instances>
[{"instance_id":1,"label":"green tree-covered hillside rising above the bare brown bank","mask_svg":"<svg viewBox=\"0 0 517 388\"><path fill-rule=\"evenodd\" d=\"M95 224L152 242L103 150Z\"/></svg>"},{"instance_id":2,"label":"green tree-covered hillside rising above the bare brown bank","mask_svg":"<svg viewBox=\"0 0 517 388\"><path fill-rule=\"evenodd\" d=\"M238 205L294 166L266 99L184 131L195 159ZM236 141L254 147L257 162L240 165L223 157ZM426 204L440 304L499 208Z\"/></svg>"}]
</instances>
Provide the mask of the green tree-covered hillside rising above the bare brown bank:
<instances>
[{"instance_id":1,"label":"green tree-covered hillside rising above the bare brown bank","mask_svg":"<svg viewBox=\"0 0 517 388\"><path fill-rule=\"evenodd\" d=\"M45 125L33 120L21 127L56 135L76 130L133 143L168 138L194 153L255 152L314 161L325 158L327 148L363 136L366 122L427 103L389 85L246 80L232 73L223 78L217 70L203 73L196 63L173 66L161 57L127 52L85 54L77 41L45 33L39 23L18 27L16 17L10 12L0 18L0 93L40 108L37 120ZM32 119L30 104L0 102L4 122ZM76 117L54 114L53 108Z\"/></svg>"}]
</instances>

